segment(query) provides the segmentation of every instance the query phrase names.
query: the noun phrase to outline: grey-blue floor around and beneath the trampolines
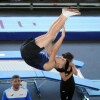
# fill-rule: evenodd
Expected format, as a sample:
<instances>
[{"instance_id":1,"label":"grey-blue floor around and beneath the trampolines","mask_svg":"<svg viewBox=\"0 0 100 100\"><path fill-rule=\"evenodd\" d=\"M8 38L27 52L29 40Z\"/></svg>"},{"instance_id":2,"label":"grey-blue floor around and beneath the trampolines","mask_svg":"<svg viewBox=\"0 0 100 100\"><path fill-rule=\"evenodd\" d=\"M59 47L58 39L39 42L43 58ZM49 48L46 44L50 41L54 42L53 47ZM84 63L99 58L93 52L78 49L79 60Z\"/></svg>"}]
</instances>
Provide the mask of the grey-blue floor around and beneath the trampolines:
<instances>
[{"instance_id":1,"label":"grey-blue floor around and beneath the trampolines","mask_svg":"<svg viewBox=\"0 0 100 100\"><path fill-rule=\"evenodd\" d=\"M23 41L1 41L0 50L19 50L20 45ZM64 41L58 55L62 52L70 51L74 54L75 59L83 61L85 66L81 69L85 78L88 79L100 79L100 41ZM46 82L45 82L46 81ZM42 86L41 84L44 83ZM37 80L37 84L40 87L41 97L36 95L34 84L29 83L28 89L30 91L32 100L59 100L59 82L49 81L49 80ZM4 85L0 84L0 98L2 97L2 92L7 89L10 84ZM81 100L82 95L75 91L73 100ZM90 100L100 100L100 97L90 97Z\"/></svg>"}]
</instances>

